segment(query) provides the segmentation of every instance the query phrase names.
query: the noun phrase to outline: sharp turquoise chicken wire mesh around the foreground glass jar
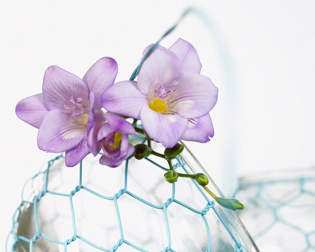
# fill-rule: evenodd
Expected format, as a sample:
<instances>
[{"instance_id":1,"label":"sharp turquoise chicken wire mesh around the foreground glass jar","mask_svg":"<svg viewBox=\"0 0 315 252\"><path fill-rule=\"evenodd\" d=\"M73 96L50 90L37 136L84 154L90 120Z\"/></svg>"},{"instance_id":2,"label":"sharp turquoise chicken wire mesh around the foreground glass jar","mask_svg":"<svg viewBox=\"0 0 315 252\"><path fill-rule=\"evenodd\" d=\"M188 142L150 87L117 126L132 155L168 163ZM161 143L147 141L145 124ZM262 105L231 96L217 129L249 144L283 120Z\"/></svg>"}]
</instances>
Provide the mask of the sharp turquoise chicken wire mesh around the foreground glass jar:
<instances>
[{"instance_id":1,"label":"sharp turquoise chicken wire mesh around the foreground glass jar","mask_svg":"<svg viewBox=\"0 0 315 252\"><path fill-rule=\"evenodd\" d=\"M165 248L163 248L163 250L161 250L161 252L168 252L168 251L171 251L171 252L175 252L174 249L172 249L172 239L171 239L171 230L169 228L169 222L168 222L168 211L167 211L167 208L169 207L170 204L179 204L180 206L183 206L199 215L201 215L203 221L204 221L204 224L205 224L205 227L206 227L206 231L207 231L207 237L208 237L208 250L206 252L211 252L211 242L215 242L215 241L211 241L211 235L210 235L210 229L209 229L209 225L208 225L208 222L205 218L205 215L207 214L208 211L210 211L210 209L212 209L215 214L217 215L217 217L219 218L219 220L222 222L222 224L224 225L224 227L226 228L226 230L228 231L228 233L231 235L231 238L233 239L233 241L235 242L235 252L244 252L244 251L247 251L243 246L242 244L239 242L238 238L235 236L235 234L232 232L232 230L230 229L230 227L227 225L227 223L224 221L224 219L222 218L222 216L220 215L219 211L216 209L215 207L215 203L213 201L211 201L208 196L206 195L206 193L203 191L203 189L198 185L198 183L195 181L195 180L192 180L193 183L195 184L195 186L197 186L198 190L202 193L203 197L206 199L206 201L208 202L205 206L205 208L202 210L202 211L198 211L196 209L193 209L192 207L190 207L189 205L186 205L178 200L175 199L175 184L172 184L172 196L171 198L169 198L165 203L163 203L163 205L155 205L155 204L152 204L136 195L134 195L133 193L129 192L127 190L127 179L128 179L128 163L129 163L129 158L126 159L126 163L125 163L125 171L124 171L124 188L123 189L120 189L113 197L108 197L108 196L105 196L105 195L101 195L97 192L94 192L92 190L90 190L89 188L85 187L82 185L82 162L80 163L80 169L79 169L79 181L78 181L78 186L76 186L74 188L73 191L71 191L69 194L64 194L64 193L58 193L58 192L52 192L52 191L49 191L48 190L48 181L49 181L49 170L50 170L50 167L52 166L52 164L54 163L54 161L60 159L60 158L64 158L63 154L60 154L59 156L55 157L54 159L50 160L48 162L48 166L47 166L47 169L45 169L43 172L38 172L36 175L34 175L33 177L31 177L29 180L31 179L34 179L36 178L38 175L40 174L45 174L46 175L46 179L45 179L45 186L44 186L44 189L42 192L39 193L39 195L33 200L33 201L26 201L26 200L23 200L23 196L22 196L22 201L19 205L19 207L16 209L15 213L14 213L14 216L13 216L13 225L12 225L12 230L11 232L9 233L9 236L10 235L13 235L14 237L14 243L11 247L11 251L14 251L14 249L16 248L17 244L20 242L20 241L24 241L26 243L29 243L29 251L32 252L33 251L33 244L36 243L36 241L40 238L40 237L43 237L53 243L59 243L61 245L64 246L64 251L66 252L67 251L67 245L69 245L70 243L74 242L77 238L81 239L83 242L85 243L88 243L89 245L93 246L94 248L96 249L99 249L101 251L107 251L107 252L113 252L113 251L116 251L119 246L121 246L123 243L126 243L128 244L129 246L139 250L139 251L142 251L142 252L148 252L147 250L145 249L142 249L140 247L138 247L137 245L133 244L133 243L130 243L129 241L125 240L124 239L124 236L123 236L123 228L122 228L122 223L121 223L121 219L120 219L120 215L119 215L119 208L118 208L118 202L119 202L119 197L123 194L128 194L129 196L135 198L136 200L152 207L152 208L155 208L155 209L160 209L160 210L163 210L163 213L164 213L164 220L165 220L165 228L167 230L167 237L168 237L168 244ZM164 168L163 166L155 163L154 161L152 161L151 159L149 158L146 158L146 160L148 162L151 162L153 163L154 165L156 165L158 168L160 169L163 169L163 170L169 170L169 169L166 169ZM189 174L188 170L185 168L185 163L183 163L181 161L180 158L177 157L177 163L174 164L174 169L177 169L179 167L181 167L187 174ZM27 180L28 181L28 180ZM26 181L26 183L27 183ZM24 187L25 185L23 186L23 190L24 190ZM118 227L119 227L119 231L120 231L120 239L118 239L117 243L115 245L113 245L111 248L103 248L103 247L100 247L92 242L90 242L89 240L85 239L84 237L80 236L80 234L77 233L77 229L76 229L76 218L75 218L75 209L74 209L74 206L73 206L73 203L72 203L72 198L73 196L79 192L80 190L85 190L89 193L92 193L100 198L103 198L105 200L113 200L114 201L114 205L115 205L115 210L116 210L116 215L117 215L117 222L118 222ZM38 202L47 194L54 194L54 195L57 195L57 196L61 196L61 197L68 197L69 200L70 200L70 208L71 208L71 213L72 213L72 226L73 226L73 235L69 238L69 239L66 239L65 241L59 241L59 240L55 240L55 239L52 239L50 237L48 237L47 235L45 235L44 233L42 233L40 231L40 228L39 228L39 225L38 225L38 218L37 218L37 204ZM23 195L23 192L22 192L22 195ZM36 228L36 233L34 234L34 236L30 239L24 237L24 236L21 236L21 235L18 235L17 232L15 231L15 226L18 224L18 216L19 214L21 213L21 210L22 210L22 207L25 203L28 203L28 204L33 204L34 206L34 220L35 220L35 228ZM9 238L8 236L8 238ZM8 239L7 239L7 243L8 243ZM6 244L6 251L8 252L7 250L7 244Z\"/></svg>"}]
</instances>

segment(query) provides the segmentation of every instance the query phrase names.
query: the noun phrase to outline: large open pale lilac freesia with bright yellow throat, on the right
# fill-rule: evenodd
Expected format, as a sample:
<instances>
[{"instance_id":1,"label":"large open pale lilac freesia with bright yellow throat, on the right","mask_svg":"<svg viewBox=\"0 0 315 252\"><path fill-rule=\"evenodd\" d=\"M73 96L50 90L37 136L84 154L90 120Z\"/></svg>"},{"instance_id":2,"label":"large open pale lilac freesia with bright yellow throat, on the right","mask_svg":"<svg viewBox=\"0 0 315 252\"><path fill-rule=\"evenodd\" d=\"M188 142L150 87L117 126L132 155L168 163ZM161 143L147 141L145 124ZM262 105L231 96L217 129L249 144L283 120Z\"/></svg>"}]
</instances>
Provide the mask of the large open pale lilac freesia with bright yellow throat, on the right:
<instances>
[{"instance_id":1,"label":"large open pale lilac freesia with bright yellow throat, on the right","mask_svg":"<svg viewBox=\"0 0 315 252\"><path fill-rule=\"evenodd\" d=\"M114 84L101 103L109 112L141 119L146 134L164 147L180 139L205 143L214 135L209 112L218 89L200 70L196 49L178 39L169 49L157 46L137 81Z\"/></svg>"}]
</instances>

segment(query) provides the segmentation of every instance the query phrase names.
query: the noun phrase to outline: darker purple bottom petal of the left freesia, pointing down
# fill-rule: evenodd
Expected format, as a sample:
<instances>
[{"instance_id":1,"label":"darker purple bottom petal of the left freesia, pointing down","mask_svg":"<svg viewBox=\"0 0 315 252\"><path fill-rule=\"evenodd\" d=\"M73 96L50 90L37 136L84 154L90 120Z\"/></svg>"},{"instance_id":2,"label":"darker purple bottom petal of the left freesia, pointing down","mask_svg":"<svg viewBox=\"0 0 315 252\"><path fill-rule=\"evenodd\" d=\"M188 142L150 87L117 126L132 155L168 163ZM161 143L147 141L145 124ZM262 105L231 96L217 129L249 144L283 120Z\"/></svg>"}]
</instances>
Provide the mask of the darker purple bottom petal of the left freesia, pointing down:
<instances>
[{"instance_id":1,"label":"darker purple bottom petal of the left freesia, pointing down","mask_svg":"<svg viewBox=\"0 0 315 252\"><path fill-rule=\"evenodd\" d=\"M77 146L69 151L66 151L65 161L66 166L73 167L80 163L86 155L89 154L88 145L85 139L83 139Z\"/></svg>"}]
</instances>

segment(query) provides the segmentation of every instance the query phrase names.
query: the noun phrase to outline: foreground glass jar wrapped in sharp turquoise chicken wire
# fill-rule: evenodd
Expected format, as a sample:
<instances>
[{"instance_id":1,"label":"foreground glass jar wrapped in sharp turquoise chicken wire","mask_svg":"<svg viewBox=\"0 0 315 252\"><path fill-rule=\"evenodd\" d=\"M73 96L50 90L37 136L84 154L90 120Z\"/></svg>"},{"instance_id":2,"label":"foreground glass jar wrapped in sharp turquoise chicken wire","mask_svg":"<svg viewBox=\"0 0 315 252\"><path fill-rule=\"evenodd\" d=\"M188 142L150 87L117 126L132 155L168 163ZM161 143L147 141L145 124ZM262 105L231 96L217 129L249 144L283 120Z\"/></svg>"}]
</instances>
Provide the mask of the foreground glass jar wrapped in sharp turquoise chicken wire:
<instances>
[{"instance_id":1,"label":"foreground glass jar wrapped in sharp turquoise chicken wire","mask_svg":"<svg viewBox=\"0 0 315 252\"><path fill-rule=\"evenodd\" d=\"M68 168L59 157L28 180L8 251L258 251L235 212L213 203L194 180L166 182L166 160L132 157L113 169L98 159L89 154L81 168ZM173 161L181 173L209 177L186 146Z\"/></svg>"}]
</instances>

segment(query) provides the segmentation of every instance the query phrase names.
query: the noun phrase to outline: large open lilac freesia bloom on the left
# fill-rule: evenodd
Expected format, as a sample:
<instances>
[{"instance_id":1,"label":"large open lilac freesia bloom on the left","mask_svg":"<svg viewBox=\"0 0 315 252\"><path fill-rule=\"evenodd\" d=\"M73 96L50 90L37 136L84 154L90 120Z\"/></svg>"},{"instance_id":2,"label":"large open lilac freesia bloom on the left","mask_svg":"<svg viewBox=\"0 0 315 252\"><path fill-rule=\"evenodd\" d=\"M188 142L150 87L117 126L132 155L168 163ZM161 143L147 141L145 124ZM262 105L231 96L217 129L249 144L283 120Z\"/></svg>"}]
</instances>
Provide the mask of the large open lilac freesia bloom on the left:
<instances>
[{"instance_id":1,"label":"large open lilac freesia bloom on the left","mask_svg":"<svg viewBox=\"0 0 315 252\"><path fill-rule=\"evenodd\" d=\"M66 152L66 165L74 166L88 153L87 132L103 120L101 94L113 85L117 63L110 57L96 61L83 79L58 66L44 74L43 93L21 100L16 115L39 129L38 147L47 152Z\"/></svg>"}]
</instances>

